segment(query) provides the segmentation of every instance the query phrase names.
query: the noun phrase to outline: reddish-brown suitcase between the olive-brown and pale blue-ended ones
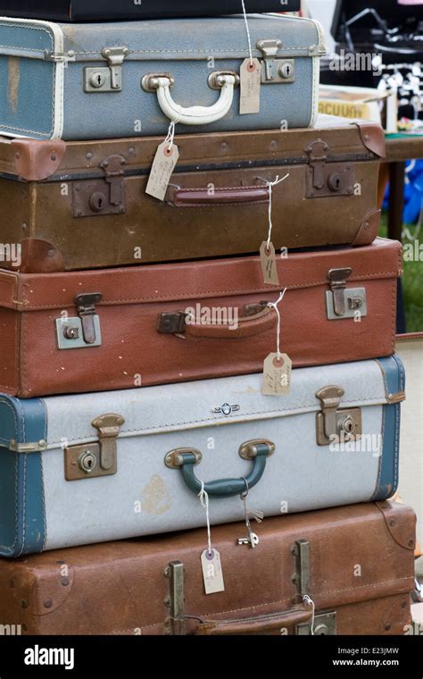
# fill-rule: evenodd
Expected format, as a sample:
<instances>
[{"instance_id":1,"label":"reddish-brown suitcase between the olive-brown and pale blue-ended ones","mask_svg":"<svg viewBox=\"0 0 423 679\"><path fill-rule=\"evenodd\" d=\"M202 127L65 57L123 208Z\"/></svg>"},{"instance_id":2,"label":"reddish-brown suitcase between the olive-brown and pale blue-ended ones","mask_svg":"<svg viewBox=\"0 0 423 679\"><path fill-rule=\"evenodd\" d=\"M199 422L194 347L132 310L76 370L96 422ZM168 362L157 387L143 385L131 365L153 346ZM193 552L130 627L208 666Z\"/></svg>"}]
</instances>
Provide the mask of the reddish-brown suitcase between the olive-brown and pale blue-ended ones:
<instances>
[{"instance_id":1,"label":"reddish-brown suitcase between the olive-brown and pale blue-ended ones","mask_svg":"<svg viewBox=\"0 0 423 679\"><path fill-rule=\"evenodd\" d=\"M278 260L280 287L260 258L101 271L0 271L0 390L22 398L132 389L260 373L277 348L294 366L394 354L402 247L296 253Z\"/></svg>"}]
</instances>

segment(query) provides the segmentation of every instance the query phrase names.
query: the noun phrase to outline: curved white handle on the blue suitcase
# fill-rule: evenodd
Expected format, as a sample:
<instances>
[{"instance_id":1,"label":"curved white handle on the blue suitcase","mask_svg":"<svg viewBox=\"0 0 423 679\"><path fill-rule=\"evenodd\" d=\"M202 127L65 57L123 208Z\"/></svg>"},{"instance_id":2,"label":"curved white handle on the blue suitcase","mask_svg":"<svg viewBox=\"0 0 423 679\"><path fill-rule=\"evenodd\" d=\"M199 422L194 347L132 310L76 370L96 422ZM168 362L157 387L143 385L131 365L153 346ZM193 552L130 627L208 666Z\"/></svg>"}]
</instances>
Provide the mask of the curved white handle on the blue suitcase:
<instances>
[{"instance_id":1,"label":"curved white handle on the blue suitcase","mask_svg":"<svg viewBox=\"0 0 423 679\"><path fill-rule=\"evenodd\" d=\"M170 94L170 78L159 77L157 81L157 100L162 112L172 122L182 122L184 125L209 125L211 122L220 121L224 118L234 102L236 77L233 75L220 76L220 98L216 104L212 106L191 106L190 108L179 106L173 101Z\"/></svg>"}]
</instances>

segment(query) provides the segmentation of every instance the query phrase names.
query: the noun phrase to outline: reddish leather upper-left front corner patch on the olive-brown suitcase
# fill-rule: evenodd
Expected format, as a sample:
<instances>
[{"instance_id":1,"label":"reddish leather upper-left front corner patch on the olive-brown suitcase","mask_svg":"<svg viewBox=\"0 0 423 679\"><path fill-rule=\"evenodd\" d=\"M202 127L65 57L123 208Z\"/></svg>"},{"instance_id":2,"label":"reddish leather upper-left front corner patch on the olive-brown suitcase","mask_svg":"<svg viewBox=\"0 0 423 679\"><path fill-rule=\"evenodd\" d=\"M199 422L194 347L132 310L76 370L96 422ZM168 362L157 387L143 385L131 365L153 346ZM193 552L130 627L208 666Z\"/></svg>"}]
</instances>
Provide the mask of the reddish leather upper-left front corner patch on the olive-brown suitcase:
<instances>
[{"instance_id":1,"label":"reddish leather upper-left front corner patch on the olive-brown suitcase","mask_svg":"<svg viewBox=\"0 0 423 679\"><path fill-rule=\"evenodd\" d=\"M61 166L66 153L66 142L62 139L13 139L11 147L16 173L27 181L51 177Z\"/></svg>"}]
</instances>

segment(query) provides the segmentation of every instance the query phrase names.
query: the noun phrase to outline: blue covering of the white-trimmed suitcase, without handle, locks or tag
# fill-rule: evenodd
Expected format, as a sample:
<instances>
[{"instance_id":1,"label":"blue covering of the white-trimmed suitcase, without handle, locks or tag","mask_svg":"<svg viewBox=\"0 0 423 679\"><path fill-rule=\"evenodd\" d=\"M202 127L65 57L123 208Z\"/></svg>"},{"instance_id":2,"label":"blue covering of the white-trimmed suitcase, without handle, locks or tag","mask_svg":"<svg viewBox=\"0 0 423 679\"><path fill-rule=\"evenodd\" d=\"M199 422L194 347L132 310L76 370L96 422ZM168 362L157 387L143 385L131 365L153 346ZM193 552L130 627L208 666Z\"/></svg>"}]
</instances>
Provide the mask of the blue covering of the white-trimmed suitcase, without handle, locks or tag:
<instances>
[{"instance_id":1,"label":"blue covering of the white-trimmed suitcase, without handle, locks or tag","mask_svg":"<svg viewBox=\"0 0 423 679\"><path fill-rule=\"evenodd\" d=\"M34 22L32 25L35 26ZM311 124L317 105L319 82L314 77L311 45L319 54L319 33L312 21L299 21L282 16L252 16L249 19L253 55L259 39L280 39L281 56L294 57L295 81L263 85L261 113L239 115L239 88L231 111L220 122L195 128L196 131L280 129L281 122L289 127ZM175 78L172 96L178 105L210 106L219 98L207 79L212 71L239 71L248 56L248 42L242 15L214 19L176 19L170 21L129 21L105 23L98 30L93 24L61 24L64 51L75 52L76 61L68 63L64 81L63 139L95 139L131 137L141 134L165 135L170 121L162 113L157 97L146 93L140 82L148 73L171 72ZM41 34L41 37L39 37ZM48 29L14 27L0 21L0 44L13 47L37 45L54 50ZM102 66L104 47L127 46L130 54L123 65L124 85L121 92L84 92L84 69ZM5 48L0 48L1 51ZM7 93L8 57L0 56L0 130L31 138L49 138L53 133L54 106L53 63L26 59L20 64L21 84L16 103ZM210 59L215 65L209 68ZM319 72L319 71L318 71ZM104 112L107 112L105 115ZM61 112L56 112L56 116ZM99 121L102 122L99 125ZM177 133L191 131L178 125Z\"/></svg>"}]
</instances>

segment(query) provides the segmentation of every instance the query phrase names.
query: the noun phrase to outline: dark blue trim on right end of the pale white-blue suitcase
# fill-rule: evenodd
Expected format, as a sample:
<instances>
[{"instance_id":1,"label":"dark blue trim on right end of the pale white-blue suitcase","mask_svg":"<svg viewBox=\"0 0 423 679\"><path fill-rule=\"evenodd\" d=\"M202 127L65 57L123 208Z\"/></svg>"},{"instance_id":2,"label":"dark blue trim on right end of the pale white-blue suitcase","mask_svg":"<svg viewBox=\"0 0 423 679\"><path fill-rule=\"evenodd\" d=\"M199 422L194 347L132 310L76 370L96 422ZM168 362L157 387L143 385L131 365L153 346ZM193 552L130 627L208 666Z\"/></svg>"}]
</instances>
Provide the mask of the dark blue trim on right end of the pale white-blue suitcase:
<instances>
[{"instance_id":1,"label":"dark blue trim on right end of the pale white-blue suitcase","mask_svg":"<svg viewBox=\"0 0 423 679\"><path fill-rule=\"evenodd\" d=\"M405 391L405 370L400 356L380 358L385 377L386 395ZM380 458L377 488L372 501L392 498L398 490L400 465L401 404L384 406L383 452Z\"/></svg>"}]
</instances>

